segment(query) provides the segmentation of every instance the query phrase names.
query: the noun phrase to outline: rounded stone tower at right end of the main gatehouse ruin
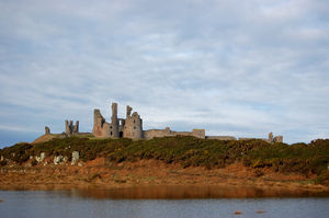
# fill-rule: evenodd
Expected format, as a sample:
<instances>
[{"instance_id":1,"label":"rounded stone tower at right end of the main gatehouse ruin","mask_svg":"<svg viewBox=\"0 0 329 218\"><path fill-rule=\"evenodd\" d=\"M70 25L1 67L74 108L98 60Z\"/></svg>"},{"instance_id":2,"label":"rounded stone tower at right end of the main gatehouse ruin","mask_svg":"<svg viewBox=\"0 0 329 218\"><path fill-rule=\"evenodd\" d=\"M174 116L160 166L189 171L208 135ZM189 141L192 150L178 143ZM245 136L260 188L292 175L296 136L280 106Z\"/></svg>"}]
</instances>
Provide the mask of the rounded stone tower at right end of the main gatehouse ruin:
<instances>
[{"instance_id":1,"label":"rounded stone tower at right end of the main gatehouse ruin","mask_svg":"<svg viewBox=\"0 0 329 218\"><path fill-rule=\"evenodd\" d=\"M137 112L132 113L132 107L127 106L127 117L125 122L124 128L124 137L125 138L135 138L141 139L143 138L143 121Z\"/></svg>"}]
</instances>

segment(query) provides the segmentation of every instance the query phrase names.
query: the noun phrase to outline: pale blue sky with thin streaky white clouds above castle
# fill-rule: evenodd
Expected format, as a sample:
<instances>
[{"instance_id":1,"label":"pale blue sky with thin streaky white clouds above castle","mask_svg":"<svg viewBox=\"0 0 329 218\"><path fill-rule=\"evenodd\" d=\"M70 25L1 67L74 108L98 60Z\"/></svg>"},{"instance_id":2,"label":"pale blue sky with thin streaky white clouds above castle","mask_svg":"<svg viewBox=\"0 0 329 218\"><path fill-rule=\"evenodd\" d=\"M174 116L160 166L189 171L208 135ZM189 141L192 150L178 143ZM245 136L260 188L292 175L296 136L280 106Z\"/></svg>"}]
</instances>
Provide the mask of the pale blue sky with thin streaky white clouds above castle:
<instances>
[{"instance_id":1,"label":"pale blue sky with thin streaky white clouds above castle","mask_svg":"<svg viewBox=\"0 0 329 218\"><path fill-rule=\"evenodd\" d=\"M0 0L0 148L112 102L144 129L329 138L329 1Z\"/></svg>"}]
</instances>

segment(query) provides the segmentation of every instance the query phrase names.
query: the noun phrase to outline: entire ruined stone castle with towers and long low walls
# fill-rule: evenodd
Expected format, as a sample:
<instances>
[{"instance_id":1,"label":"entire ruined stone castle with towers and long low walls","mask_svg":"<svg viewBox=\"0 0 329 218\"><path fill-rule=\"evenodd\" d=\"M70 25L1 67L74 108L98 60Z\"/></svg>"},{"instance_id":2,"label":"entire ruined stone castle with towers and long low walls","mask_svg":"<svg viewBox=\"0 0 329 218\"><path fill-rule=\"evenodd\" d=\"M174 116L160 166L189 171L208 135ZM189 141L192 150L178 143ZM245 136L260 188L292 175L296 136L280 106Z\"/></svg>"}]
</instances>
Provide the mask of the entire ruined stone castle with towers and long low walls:
<instances>
[{"instance_id":1,"label":"entire ruined stone castle with towers and long low walls","mask_svg":"<svg viewBox=\"0 0 329 218\"><path fill-rule=\"evenodd\" d=\"M214 139L214 140L251 140L261 139L270 144L283 142L283 136L273 136L269 134L268 138L236 138L234 136L206 136L205 129L193 129L192 131L174 131L169 127L164 129L143 129L143 119L137 112L133 112L133 108L127 105L126 117L117 117L117 103L112 103L112 116L111 122L102 116L101 111L95 108L93 111L93 127L92 134L79 133L79 121L73 124L73 121L65 121L65 133L60 137L70 137L73 135L81 136L94 136L97 138L131 138L131 139L152 139L157 137L174 137L174 136L193 136L201 139ZM50 128L45 127L44 136L55 136L50 134Z\"/></svg>"}]
</instances>

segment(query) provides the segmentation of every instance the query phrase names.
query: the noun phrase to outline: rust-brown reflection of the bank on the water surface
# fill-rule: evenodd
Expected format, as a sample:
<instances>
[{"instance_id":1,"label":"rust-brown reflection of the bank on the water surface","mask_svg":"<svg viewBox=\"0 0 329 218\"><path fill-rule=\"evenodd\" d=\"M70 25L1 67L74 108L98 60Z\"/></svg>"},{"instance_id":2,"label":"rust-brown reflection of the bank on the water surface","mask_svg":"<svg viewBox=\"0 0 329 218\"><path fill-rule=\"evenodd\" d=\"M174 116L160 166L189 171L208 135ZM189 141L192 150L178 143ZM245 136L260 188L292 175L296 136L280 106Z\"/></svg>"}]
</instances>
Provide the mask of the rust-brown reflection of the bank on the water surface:
<instances>
[{"instance_id":1,"label":"rust-brown reflection of the bank on the water surface","mask_svg":"<svg viewBox=\"0 0 329 218\"><path fill-rule=\"evenodd\" d=\"M191 199L191 198L259 198L259 197L325 197L329 193L307 191L263 190L252 186L155 185L110 190L71 190L70 196L97 199Z\"/></svg>"}]
</instances>

